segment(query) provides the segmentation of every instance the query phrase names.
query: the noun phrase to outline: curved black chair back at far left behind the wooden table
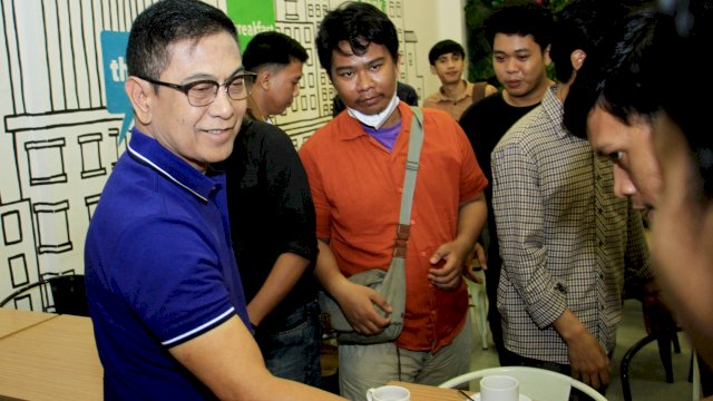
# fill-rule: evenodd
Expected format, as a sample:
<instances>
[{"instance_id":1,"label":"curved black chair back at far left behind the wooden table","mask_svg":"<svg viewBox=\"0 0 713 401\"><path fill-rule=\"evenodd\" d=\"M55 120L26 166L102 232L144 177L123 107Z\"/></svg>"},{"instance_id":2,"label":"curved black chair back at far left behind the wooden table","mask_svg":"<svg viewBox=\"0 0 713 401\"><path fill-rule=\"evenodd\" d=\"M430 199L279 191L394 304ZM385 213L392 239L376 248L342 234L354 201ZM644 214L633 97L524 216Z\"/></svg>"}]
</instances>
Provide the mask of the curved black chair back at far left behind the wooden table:
<instances>
[{"instance_id":1,"label":"curved black chair back at far left behind the wooden table","mask_svg":"<svg viewBox=\"0 0 713 401\"><path fill-rule=\"evenodd\" d=\"M62 274L27 284L0 301L0 307L12 304L16 309L38 310L36 303L42 312L89 316L85 276Z\"/></svg>"}]
</instances>

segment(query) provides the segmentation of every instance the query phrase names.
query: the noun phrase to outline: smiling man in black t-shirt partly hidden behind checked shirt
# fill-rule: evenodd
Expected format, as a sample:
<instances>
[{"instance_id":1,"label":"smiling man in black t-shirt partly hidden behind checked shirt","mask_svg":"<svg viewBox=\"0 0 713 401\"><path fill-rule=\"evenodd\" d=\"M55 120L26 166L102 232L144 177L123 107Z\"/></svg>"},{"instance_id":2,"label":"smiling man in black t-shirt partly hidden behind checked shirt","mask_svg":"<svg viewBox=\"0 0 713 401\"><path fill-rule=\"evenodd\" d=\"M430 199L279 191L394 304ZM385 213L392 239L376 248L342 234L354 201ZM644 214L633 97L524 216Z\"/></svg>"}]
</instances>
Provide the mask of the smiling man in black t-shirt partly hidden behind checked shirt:
<instances>
[{"instance_id":1,"label":"smiling man in black t-shirt partly hidden behind checked shirt","mask_svg":"<svg viewBox=\"0 0 713 401\"><path fill-rule=\"evenodd\" d=\"M537 107L554 82L547 77L549 42L553 32L549 10L535 2L505 2L485 21L485 32L492 48L492 68L502 90L470 106L460 118L484 174L491 182L490 153L500 138L522 116ZM492 212L492 187L486 188L488 227L481 235L486 247L486 291L488 322L500 364L507 363L502 327L497 307L500 282L500 253ZM485 327L481 327L485 330Z\"/></svg>"}]
</instances>

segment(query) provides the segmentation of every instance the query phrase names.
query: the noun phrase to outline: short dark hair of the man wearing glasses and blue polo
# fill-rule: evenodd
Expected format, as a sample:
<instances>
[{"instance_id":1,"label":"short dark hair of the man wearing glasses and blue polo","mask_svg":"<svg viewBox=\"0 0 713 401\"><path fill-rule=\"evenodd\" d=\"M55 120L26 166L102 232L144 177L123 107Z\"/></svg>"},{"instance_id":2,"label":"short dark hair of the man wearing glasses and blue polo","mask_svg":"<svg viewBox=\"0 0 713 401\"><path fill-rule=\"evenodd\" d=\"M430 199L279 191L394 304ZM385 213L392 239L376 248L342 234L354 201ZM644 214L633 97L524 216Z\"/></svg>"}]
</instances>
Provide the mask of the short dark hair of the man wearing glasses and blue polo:
<instances>
[{"instance_id":1,"label":"short dark hair of the man wearing glasses and blue polo","mask_svg":"<svg viewBox=\"0 0 713 401\"><path fill-rule=\"evenodd\" d=\"M218 32L229 33L237 43L235 25L219 9L199 0L158 1L131 25L126 48L128 74L158 79L170 60L170 45Z\"/></svg>"}]
</instances>

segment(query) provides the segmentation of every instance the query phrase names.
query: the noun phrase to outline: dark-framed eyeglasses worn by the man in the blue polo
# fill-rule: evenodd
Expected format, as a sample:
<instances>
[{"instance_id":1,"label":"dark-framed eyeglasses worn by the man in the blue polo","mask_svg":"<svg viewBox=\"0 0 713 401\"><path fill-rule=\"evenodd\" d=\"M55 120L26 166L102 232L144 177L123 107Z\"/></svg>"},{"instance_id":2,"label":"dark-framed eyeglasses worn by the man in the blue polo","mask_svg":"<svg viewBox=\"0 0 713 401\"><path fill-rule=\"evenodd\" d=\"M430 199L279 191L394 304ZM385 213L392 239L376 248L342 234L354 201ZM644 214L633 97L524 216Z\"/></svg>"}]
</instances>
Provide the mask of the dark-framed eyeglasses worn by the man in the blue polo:
<instances>
[{"instance_id":1,"label":"dark-framed eyeglasses worn by the man in the blue polo","mask_svg":"<svg viewBox=\"0 0 713 401\"><path fill-rule=\"evenodd\" d=\"M241 71L237 75L233 76L233 78L228 79L225 84L218 84L214 80L204 79L195 82L189 82L186 85L177 85L163 82L156 79L138 77L145 81L152 82L154 85L165 86L172 89L179 90L186 95L188 98L188 102L194 107L203 107L212 104L216 96L218 95L218 88L225 87L225 92L233 100L243 100L247 98L250 91L247 90L247 86L245 85L246 78L252 78L257 76L255 72L251 71Z\"/></svg>"}]
</instances>

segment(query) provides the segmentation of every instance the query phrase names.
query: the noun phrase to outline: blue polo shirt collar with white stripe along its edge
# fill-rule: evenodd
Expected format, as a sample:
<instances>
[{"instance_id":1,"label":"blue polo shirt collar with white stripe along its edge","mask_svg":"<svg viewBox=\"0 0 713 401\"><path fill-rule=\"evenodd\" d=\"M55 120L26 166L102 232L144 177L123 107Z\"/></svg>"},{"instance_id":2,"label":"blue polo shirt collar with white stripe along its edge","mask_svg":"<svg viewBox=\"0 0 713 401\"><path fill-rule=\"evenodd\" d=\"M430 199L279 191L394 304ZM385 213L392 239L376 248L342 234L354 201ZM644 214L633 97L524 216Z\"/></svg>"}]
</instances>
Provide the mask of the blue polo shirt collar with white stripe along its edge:
<instances>
[{"instance_id":1,"label":"blue polo shirt collar with white stripe along its edge","mask_svg":"<svg viewBox=\"0 0 713 401\"><path fill-rule=\"evenodd\" d=\"M141 133L136 127L131 128L128 151L138 163L155 169L204 202L208 200L211 193L218 189L216 182L188 165L156 139Z\"/></svg>"}]
</instances>

